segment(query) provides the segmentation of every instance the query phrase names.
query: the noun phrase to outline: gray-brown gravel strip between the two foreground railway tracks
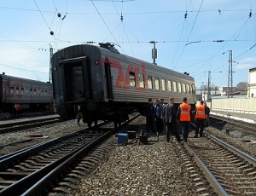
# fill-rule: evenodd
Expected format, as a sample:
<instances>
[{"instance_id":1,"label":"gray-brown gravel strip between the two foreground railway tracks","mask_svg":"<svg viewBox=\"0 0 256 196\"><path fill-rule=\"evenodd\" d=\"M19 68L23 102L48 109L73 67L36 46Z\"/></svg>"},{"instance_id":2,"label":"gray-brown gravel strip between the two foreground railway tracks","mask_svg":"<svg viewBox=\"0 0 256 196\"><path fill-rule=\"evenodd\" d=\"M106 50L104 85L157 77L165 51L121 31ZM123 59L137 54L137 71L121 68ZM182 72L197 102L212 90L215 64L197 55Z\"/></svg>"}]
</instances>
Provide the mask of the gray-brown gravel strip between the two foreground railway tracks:
<instances>
[{"instance_id":1,"label":"gray-brown gravel strip between the two foreground railway tracks","mask_svg":"<svg viewBox=\"0 0 256 196\"><path fill-rule=\"evenodd\" d=\"M145 119L132 124L144 129ZM183 144L174 138L167 143L164 135L148 141L116 144L108 159L84 177L76 195L198 195L181 155Z\"/></svg>"}]
</instances>

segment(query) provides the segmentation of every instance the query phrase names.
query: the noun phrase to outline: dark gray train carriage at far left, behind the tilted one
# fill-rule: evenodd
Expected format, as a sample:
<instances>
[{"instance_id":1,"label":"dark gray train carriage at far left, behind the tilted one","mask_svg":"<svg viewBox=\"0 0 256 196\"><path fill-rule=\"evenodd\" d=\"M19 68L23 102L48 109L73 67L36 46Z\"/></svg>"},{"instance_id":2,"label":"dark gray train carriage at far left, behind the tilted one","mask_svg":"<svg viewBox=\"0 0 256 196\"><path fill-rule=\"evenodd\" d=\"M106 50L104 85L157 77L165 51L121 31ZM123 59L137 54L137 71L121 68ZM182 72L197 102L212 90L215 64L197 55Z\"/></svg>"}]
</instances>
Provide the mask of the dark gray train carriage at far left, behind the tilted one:
<instances>
[{"instance_id":1,"label":"dark gray train carriage at far left, behind the tilted one","mask_svg":"<svg viewBox=\"0 0 256 196\"><path fill-rule=\"evenodd\" d=\"M0 74L1 112L12 112L15 102L23 111L38 112L54 102L52 84Z\"/></svg>"}]
</instances>

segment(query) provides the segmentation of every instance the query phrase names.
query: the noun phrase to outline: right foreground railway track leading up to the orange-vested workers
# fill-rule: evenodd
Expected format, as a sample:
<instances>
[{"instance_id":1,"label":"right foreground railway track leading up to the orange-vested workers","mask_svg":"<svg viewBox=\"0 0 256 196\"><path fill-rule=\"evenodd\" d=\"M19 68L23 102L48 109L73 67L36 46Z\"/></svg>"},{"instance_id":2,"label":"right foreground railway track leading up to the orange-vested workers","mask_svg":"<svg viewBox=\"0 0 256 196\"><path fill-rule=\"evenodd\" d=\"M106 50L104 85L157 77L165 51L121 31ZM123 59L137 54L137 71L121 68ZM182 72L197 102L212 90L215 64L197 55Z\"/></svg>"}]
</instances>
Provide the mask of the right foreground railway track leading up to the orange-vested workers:
<instances>
[{"instance_id":1,"label":"right foreground railway track leading up to the orange-vested workers","mask_svg":"<svg viewBox=\"0 0 256 196\"><path fill-rule=\"evenodd\" d=\"M185 147L219 195L256 194L256 160L212 135Z\"/></svg>"}]
</instances>

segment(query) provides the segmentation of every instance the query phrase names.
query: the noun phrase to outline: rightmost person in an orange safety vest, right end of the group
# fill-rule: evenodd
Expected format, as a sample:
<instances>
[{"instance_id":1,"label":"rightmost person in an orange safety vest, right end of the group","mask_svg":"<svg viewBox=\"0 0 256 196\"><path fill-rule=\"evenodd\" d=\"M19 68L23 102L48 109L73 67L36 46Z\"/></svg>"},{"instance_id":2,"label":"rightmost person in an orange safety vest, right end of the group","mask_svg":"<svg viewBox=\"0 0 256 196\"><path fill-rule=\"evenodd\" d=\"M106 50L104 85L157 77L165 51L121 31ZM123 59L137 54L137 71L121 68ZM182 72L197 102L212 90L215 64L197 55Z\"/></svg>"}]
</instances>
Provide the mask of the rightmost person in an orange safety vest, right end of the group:
<instances>
[{"instance_id":1,"label":"rightmost person in an orange safety vest, right end of the group","mask_svg":"<svg viewBox=\"0 0 256 196\"><path fill-rule=\"evenodd\" d=\"M200 101L200 105L198 105L195 109L196 128L195 128L194 138L198 138L198 133L200 134L200 137L203 136L203 130L205 128L206 118L207 118L207 112L204 106L204 101ZM199 132L199 128L200 128L200 132Z\"/></svg>"}]
</instances>

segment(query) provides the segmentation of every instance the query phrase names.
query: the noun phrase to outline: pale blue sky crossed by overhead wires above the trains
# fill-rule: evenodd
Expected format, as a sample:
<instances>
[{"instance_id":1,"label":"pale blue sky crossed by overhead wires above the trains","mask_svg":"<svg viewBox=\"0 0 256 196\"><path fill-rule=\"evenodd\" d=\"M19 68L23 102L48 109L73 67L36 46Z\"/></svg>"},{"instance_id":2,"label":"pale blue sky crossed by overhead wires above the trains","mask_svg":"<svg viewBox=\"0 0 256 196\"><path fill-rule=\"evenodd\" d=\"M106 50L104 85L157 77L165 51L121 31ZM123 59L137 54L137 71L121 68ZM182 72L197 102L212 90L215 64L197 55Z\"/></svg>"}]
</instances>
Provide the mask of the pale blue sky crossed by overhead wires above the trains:
<instances>
[{"instance_id":1,"label":"pale blue sky crossed by overhead wires above the trains","mask_svg":"<svg viewBox=\"0 0 256 196\"><path fill-rule=\"evenodd\" d=\"M255 12L253 0L0 0L0 69L49 81L50 46L116 43L153 62L154 41L157 65L189 72L196 88L209 76L228 86L231 50L236 86L256 67Z\"/></svg>"}]
</instances>

